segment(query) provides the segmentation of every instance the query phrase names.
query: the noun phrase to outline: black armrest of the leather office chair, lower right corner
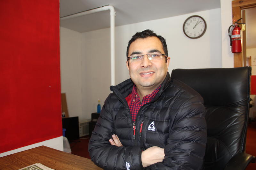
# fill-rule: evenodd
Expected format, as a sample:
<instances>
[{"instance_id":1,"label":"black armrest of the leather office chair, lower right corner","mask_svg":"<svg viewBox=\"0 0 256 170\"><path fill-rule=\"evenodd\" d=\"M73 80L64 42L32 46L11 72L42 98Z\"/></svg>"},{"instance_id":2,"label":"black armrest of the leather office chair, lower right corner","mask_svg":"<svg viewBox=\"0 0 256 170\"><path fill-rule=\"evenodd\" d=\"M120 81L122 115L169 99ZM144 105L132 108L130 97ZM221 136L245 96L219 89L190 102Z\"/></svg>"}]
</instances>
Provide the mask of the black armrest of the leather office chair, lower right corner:
<instances>
[{"instance_id":1,"label":"black armrest of the leather office chair, lower right corner","mask_svg":"<svg viewBox=\"0 0 256 170\"><path fill-rule=\"evenodd\" d=\"M237 153L228 161L224 170L244 170L251 162L255 163L256 158L248 153Z\"/></svg>"}]
</instances>

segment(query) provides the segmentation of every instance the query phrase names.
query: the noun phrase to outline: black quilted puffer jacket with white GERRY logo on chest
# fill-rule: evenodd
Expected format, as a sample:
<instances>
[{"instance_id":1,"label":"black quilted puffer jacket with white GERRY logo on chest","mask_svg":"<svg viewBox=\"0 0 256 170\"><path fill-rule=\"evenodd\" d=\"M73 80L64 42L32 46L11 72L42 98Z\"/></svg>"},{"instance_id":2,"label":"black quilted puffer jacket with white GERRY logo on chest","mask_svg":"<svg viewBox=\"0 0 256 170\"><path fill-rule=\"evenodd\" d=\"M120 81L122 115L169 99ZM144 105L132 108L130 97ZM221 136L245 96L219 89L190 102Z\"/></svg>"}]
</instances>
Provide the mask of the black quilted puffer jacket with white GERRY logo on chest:
<instances>
[{"instance_id":1,"label":"black quilted puffer jacket with white GERRY logo on chest","mask_svg":"<svg viewBox=\"0 0 256 170\"><path fill-rule=\"evenodd\" d=\"M169 73L153 100L143 105L136 117L133 136L132 117L125 100L133 87L128 79L111 86L92 137L92 161L108 170L140 170L141 151L151 146L164 148L163 162L144 169L201 169L206 144L206 122L202 97ZM140 125L143 123L140 133ZM116 134L123 147L110 145Z\"/></svg>"}]
</instances>

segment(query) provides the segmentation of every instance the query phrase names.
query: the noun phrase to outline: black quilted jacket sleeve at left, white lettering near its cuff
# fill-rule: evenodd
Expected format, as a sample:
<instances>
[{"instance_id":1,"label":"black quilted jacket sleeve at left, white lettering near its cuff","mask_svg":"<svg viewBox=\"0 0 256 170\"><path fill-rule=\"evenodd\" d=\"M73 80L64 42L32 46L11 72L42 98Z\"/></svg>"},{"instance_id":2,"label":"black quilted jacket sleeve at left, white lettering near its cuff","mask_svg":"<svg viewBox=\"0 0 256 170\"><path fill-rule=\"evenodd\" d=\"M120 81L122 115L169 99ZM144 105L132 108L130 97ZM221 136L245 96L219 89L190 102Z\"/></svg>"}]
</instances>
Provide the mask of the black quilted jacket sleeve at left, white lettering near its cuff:
<instances>
[{"instance_id":1,"label":"black quilted jacket sleeve at left, white lettering near its cuff","mask_svg":"<svg viewBox=\"0 0 256 170\"><path fill-rule=\"evenodd\" d=\"M100 117L89 141L90 157L97 166L107 170L143 169L140 146L117 147L108 142L115 130L113 117L109 109L109 98L102 107Z\"/></svg>"}]
</instances>

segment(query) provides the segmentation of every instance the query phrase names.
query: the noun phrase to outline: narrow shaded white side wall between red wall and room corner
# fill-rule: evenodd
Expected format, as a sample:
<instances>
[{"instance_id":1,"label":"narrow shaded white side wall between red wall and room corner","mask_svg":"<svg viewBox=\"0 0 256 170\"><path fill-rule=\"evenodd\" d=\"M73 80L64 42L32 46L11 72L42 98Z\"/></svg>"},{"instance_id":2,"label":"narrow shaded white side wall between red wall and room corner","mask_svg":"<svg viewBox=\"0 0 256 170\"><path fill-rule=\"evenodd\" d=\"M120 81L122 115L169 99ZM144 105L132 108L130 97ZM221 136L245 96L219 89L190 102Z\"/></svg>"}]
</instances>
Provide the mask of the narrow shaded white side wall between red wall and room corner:
<instances>
[{"instance_id":1,"label":"narrow shaded white side wall between red wall and room corner","mask_svg":"<svg viewBox=\"0 0 256 170\"><path fill-rule=\"evenodd\" d=\"M66 93L69 117L83 117L81 33L60 27L61 93Z\"/></svg>"}]
</instances>

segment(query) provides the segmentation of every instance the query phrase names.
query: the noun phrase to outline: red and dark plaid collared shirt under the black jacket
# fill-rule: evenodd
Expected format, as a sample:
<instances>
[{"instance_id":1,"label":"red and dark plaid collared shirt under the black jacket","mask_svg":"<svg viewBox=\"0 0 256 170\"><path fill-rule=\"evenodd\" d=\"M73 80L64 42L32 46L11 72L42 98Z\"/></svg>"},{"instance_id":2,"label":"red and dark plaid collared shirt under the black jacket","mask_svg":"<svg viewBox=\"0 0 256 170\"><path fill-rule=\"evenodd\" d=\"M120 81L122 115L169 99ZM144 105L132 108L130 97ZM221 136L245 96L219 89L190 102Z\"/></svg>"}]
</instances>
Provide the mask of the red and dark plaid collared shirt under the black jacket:
<instances>
[{"instance_id":1,"label":"red and dark plaid collared shirt under the black jacket","mask_svg":"<svg viewBox=\"0 0 256 170\"><path fill-rule=\"evenodd\" d=\"M161 85L159 85L152 93L144 96L142 102L140 102L140 96L137 93L137 88L135 85L133 85L131 94L125 98L130 108L133 122L136 120L136 115L138 114L140 107L150 102L156 96L156 93L159 91L160 87Z\"/></svg>"}]
</instances>

